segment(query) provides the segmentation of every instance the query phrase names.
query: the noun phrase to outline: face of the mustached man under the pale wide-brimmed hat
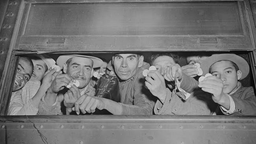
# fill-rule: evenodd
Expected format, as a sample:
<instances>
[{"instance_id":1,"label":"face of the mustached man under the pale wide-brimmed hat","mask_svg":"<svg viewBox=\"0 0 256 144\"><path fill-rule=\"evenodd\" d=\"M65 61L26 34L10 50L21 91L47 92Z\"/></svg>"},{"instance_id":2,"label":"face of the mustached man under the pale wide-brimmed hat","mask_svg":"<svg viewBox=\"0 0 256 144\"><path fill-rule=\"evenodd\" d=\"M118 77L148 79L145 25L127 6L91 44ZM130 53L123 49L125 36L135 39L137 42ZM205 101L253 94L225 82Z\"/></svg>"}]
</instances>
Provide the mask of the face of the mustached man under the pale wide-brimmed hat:
<instances>
[{"instance_id":1,"label":"face of the mustached man under the pale wide-brimmed hat","mask_svg":"<svg viewBox=\"0 0 256 144\"><path fill-rule=\"evenodd\" d=\"M66 65L66 64L64 64ZM79 81L78 88L82 89L86 87L93 76L92 60L85 57L73 57L67 69L63 71L69 74L72 78Z\"/></svg>"}]
</instances>

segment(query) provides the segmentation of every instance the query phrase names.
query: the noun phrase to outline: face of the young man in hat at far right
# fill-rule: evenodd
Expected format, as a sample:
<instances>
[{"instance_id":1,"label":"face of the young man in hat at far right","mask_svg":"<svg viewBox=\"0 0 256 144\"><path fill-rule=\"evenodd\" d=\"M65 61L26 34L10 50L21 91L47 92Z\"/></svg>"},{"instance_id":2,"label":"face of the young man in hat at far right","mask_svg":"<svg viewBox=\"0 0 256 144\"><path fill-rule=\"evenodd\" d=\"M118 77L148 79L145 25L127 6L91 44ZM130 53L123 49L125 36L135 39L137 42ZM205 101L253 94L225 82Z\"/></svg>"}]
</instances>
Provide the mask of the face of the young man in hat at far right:
<instances>
[{"instance_id":1,"label":"face of the young man in hat at far right","mask_svg":"<svg viewBox=\"0 0 256 144\"><path fill-rule=\"evenodd\" d=\"M242 72L235 69L230 61L218 61L211 65L210 72L223 81L223 92L229 94L237 89L237 81L241 78Z\"/></svg>"}]
</instances>

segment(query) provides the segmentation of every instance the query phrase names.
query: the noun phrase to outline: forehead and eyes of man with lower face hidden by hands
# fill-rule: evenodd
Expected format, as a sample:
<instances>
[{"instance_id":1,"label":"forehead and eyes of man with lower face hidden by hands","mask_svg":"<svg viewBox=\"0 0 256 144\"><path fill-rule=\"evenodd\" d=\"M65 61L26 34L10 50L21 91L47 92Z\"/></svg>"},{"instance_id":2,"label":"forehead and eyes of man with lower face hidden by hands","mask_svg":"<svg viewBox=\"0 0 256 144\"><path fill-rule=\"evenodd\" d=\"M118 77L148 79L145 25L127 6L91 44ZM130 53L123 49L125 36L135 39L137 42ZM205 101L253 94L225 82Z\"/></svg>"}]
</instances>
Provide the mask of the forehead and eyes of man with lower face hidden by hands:
<instances>
[{"instance_id":1,"label":"forehead and eyes of man with lower face hidden by hands","mask_svg":"<svg viewBox=\"0 0 256 144\"><path fill-rule=\"evenodd\" d=\"M153 66L156 66L156 70L158 70L162 76L164 75L165 70L174 64L176 63L173 58L166 55L157 57L152 63Z\"/></svg>"}]
</instances>

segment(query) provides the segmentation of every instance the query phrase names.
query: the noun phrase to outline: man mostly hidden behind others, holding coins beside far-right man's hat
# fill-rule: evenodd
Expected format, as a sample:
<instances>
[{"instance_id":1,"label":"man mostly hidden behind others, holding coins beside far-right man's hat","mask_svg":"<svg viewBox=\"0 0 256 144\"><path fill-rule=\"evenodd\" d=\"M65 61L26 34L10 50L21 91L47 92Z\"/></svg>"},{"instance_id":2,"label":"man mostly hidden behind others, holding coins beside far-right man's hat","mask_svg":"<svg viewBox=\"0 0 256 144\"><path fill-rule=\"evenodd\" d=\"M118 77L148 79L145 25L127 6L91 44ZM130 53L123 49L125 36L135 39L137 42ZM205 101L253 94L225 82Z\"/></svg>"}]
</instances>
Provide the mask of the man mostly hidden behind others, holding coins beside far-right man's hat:
<instances>
[{"instance_id":1,"label":"man mostly hidden behind others, holding coins beside far-right man's hat","mask_svg":"<svg viewBox=\"0 0 256 144\"><path fill-rule=\"evenodd\" d=\"M207 60L207 57L211 56L211 54L199 54L192 53L186 57L187 65L182 66L182 72L187 76L192 78L196 77L198 74L197 66L195 63L201 64L203 61ZM198 78L197 78L198 79Z\"/></svg>"}]
</instances>

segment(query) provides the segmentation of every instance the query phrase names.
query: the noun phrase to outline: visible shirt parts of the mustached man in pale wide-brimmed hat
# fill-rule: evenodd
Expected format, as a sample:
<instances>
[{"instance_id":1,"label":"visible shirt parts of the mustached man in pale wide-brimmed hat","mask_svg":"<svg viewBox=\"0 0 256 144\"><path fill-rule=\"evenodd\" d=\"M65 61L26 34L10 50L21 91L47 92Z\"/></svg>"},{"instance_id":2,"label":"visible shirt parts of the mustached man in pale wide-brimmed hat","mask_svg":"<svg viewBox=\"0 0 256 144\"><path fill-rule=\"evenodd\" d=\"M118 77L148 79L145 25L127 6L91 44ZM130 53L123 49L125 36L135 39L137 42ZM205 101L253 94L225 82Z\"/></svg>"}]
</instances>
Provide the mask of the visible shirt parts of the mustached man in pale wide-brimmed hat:
<instances>
[{"instance_id":1,"label":"visible shirt parts of the mustached man in pale wide-brimmed hat","mask_svg":"<svg viewBox=\"0 0 256 144\"><path fill-rule=\"evenodd\" d=\"M90 83L88 83L88 85L82 89L82 91L80 92L80 95L82 96L83 94L87 94L89 96L94 96L95 95L95 89L90 85ZM38 114L39 115L62 115L63 111L61 111L61 106L64 107L64 105L62 105L62 102L64 100L64 94L59 93L57 95L56 98L56 102L53 105L48 105L45 100L44 100L45 96L43 96L40 104L39 104L39 110L38 110Z\"/></svg>"}]
</instances>

